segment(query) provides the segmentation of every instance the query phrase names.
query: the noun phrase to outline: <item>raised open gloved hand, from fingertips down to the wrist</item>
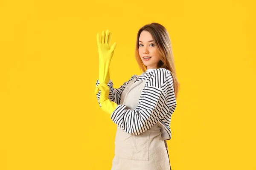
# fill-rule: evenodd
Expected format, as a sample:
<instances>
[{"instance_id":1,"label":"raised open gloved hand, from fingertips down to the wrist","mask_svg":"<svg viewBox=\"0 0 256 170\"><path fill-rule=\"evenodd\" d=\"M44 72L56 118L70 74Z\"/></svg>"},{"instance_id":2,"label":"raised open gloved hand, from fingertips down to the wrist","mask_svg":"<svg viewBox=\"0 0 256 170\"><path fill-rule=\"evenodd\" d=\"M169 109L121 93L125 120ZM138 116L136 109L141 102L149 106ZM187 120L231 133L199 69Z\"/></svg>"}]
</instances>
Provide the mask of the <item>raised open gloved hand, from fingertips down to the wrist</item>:
<instances>
[{"instance_id":1,"label":"raised open gloved hand, from fingertips down to the wrist","mask_svg":"<svg viewBox=\"0 0 256 170\"><path fill-rule=\"evenodd\" d=\"M99 37L99 33L97 34L97 44L99 51L99 62L103 64L110 64L111 59L114 54L114 50L116 48L116 42L110 46L111 43L111 35L112 33L107 31L102 31L101 38Z\"/></svg>"}]
</instances>

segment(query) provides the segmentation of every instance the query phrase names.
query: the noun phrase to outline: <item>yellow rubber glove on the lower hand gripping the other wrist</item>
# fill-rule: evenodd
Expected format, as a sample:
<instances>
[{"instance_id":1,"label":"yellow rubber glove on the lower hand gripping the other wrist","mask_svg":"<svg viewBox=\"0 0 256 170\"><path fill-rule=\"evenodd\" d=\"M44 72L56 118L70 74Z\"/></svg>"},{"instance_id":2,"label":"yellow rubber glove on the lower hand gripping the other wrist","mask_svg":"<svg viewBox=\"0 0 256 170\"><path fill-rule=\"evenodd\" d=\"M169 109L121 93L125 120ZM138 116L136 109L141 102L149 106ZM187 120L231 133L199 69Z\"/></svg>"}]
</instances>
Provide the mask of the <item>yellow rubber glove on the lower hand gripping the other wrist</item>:
<instances>
[{"instance_id":1,"label":"yellow rubber glove on the lower hand gripping the other wrist","mask_svg":"<svg viewBox=\"0 0 256 170\"><path fill-rule=\"evenodd\" d=\"M100 83L97 88L101 91L99 103L102 106L102 110L111 115L116 109L117 104L108 98L110 90L108 85L106 83Z\"/></svg>"}]
</instances>

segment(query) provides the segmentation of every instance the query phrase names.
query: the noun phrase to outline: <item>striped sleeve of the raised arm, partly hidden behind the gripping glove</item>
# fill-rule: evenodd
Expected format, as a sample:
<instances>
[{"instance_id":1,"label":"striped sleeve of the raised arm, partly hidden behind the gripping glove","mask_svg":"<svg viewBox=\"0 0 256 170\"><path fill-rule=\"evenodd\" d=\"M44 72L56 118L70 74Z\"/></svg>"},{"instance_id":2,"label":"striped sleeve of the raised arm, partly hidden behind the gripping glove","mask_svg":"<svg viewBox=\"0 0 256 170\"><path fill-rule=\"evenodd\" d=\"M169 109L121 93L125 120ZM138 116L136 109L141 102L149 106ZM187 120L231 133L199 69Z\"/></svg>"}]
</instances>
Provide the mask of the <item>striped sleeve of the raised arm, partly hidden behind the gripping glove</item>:
<instances>
[{"instance_id":1,"label":"striped sleeve of the raised arm, partly hidden behind the gripping glove","mask_svg":"<svg viewBox=\"0 0 256 170\"><path fill-rule=\"evenodd\" d=\"M124 91L126 85L132 80L134 79L134 77L136 77L136 74L134 74L128 81L124 82L119 88L114 88L113 87L113 82L112 80L110 79L110 81L108 82L108 87L109 87L109 96L108 98L112 101L112 102L115 102L117 105L119 105L120 103L120 100L121 100L121 95L122 95L122 92ZM99 82L99 79L96 81L96 87L100 84ZM101 94L101 91L99 91L96 96L97 96L97 99L98 99L98 103L99 103L99 98L100 98L100 94ZM101 106L101 104L99 103L99 106Z\"/></svg>"}]
</instances>

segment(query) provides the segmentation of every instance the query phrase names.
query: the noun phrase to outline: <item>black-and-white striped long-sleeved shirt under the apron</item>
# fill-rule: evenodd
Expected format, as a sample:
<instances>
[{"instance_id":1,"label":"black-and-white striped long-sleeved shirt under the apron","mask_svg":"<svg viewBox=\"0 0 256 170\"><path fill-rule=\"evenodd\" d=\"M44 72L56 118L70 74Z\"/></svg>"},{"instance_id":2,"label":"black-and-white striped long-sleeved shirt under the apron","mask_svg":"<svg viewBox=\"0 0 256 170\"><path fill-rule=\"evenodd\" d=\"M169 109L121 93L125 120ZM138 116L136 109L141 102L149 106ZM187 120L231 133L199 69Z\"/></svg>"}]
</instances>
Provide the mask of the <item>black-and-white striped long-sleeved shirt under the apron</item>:
<instances>
[{"instance_id":1,"label":"black-and-white striped long-sleeved shirt under the apron","mask_svg":"<svg viewBox=\"0 0 256 170\"><path fill-rule=\"evenodd\" d=\"M145 82L139 103L135 110L127 109L126 105L120 105L122 91L132 79ZM96 86L99 85L99 80ZM140 135L154 124L159 122L164 140L172 138L170 128L172 114L177 103L173 87L171 72L165 68L154 69L150 72L144 72L139 77L134 74L127 82L124 82L119 88L113 88L113 82L108 82L110 88L109 99L116 102L117 107L111 114L111 119L116 125L122 128L126 133ZM101 91L97 95L98 102ZM100 105L100 103L99 103ZM101 105L100 105L101 107Z\"/></svg>"}]
</instances>

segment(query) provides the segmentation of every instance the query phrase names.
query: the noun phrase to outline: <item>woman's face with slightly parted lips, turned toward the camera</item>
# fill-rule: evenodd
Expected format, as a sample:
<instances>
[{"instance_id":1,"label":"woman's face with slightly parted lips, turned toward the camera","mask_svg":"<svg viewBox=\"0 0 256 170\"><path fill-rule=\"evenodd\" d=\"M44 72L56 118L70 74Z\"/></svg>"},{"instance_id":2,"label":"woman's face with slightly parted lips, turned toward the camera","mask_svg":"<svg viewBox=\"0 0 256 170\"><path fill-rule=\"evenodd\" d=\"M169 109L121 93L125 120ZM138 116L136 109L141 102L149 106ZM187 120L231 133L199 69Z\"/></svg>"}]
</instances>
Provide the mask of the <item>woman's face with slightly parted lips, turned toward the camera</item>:
<instances>
[{"instance_id":1,"label":"woman's face with slightly parted lips, turned toward the camera","mask_svg":"<svg viewBox=\"0 0 256 170\"><path fill-rule=\"evenodd\" d=\"M153 37L148 31L142 31L139 38L139 54L147 69L157 68L160 58L157 55L157 48ZM150 57L146 59L147 57Z\"/></svg>"}]
</instances>

